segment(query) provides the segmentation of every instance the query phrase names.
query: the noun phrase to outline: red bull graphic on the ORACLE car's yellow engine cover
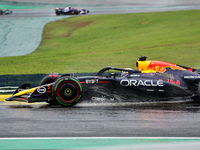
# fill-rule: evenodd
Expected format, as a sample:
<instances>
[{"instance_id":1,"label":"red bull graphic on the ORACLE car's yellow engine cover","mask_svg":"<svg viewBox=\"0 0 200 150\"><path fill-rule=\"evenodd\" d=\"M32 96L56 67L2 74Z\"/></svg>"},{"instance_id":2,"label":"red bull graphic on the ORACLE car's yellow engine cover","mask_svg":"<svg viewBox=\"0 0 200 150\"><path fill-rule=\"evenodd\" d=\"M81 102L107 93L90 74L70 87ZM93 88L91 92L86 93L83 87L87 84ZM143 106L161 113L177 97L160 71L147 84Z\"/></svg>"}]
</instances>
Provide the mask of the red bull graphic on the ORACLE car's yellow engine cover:
<instances>
[{"instance_id":1,"label":"red bull graphic on the ORACLE car's yellow engine cover","mask_svg":"<svg viewBox=\"0 0 200 150\"><path fill-rule=\"evenodd\" d=\"M146 67L149 71L156 71L164 73L166 68L171 68L173 70L185 70L182 67L176 66L175 64L163 62L163 61L150 61L150 64Z\"/></svg>"}]
</instances>

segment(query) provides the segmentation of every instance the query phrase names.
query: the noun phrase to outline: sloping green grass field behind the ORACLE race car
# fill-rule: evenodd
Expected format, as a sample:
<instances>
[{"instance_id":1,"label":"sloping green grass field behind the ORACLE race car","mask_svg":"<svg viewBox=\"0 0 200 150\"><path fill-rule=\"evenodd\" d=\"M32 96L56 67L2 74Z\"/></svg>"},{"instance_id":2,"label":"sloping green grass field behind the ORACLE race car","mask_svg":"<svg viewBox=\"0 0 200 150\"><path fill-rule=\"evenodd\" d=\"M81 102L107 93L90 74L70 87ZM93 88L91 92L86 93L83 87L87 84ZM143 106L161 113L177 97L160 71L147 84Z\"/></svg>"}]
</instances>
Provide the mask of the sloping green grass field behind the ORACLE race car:
<instances>
[{"instance_id":1,"label":"sloping green grass field behind the ORACLE race car","mask_svg":"<svg viewBox=\"0 0 200 150\"><path fill-rule=\"evenodd\" d=\"M90 15L48 23L30 55L0 58L0 74L135 69L138 56L200 68L200 10Z\"/></svg>"}]
</instances>

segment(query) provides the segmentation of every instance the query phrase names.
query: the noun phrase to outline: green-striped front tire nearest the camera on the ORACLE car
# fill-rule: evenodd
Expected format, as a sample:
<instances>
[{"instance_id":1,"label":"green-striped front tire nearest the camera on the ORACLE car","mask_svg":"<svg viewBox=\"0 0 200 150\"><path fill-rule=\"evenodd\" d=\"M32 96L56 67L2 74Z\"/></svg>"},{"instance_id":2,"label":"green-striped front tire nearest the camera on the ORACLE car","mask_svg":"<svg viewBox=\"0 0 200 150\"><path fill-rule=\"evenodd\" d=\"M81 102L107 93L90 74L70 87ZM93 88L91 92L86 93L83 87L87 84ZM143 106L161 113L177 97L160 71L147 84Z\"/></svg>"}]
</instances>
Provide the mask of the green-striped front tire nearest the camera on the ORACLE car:
<instances>
[{"instance_id":1,"label":"green-striped front tire nearest the camera on the ORACLE car","mask_svg":"<svg viewBox=\"0 0 200 150\"><path fill-rule=\"evenodd\" d=\"M81 83L73 77L61 77L53 85L52 97L63 106L76 105L82 98Z\"/></svg>"}]
</instances>

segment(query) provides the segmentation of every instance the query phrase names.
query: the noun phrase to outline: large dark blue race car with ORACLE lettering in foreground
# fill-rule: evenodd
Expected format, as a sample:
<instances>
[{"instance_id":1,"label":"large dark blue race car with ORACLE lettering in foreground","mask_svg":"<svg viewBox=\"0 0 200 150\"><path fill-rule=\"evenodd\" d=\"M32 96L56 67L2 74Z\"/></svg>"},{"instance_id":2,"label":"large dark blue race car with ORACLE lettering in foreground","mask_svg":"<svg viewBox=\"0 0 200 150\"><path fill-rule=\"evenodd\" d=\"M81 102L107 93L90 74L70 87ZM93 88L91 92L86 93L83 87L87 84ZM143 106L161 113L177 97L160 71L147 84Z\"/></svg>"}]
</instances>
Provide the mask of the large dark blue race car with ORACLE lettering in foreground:
<instances>
[{"instance_id":1,"label":"large dark blue race car with ORACLE lettering in foreground","mask_svg":"<svg viewBox=\"0 0 200 150\"><path fill-rule=\"evenodd\" d=\"M38 87L23 84L6 100L72 106L80 101L155 103L200 99L199 70L146 58L139 57L137 70L105 67L95 76L80 77L51 73Z\"/></svg>"}]
</instances>

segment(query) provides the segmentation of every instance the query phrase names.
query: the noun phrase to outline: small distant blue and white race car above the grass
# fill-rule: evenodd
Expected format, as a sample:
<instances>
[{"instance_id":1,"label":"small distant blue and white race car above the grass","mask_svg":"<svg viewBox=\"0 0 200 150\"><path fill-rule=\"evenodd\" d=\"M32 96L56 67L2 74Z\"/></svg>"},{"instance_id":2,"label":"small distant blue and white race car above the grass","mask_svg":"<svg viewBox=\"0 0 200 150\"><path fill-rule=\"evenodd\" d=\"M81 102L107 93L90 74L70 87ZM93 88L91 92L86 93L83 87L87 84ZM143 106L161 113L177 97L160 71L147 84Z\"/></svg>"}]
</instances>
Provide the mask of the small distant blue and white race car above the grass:
<instances>
[{"instance_id":1,"label":"small distant blue and white race car above the grass","mask_svg":"<svg viewBox=\"0 0 200 150\"><path fill-rule=\"evenodd\" d=\"M90 11L86 9L76 9L76 8L71 8L71 7L55 9L56 15L78 15L78 14L87 14L89 12Z\"/></svg>"}]
</instances>

